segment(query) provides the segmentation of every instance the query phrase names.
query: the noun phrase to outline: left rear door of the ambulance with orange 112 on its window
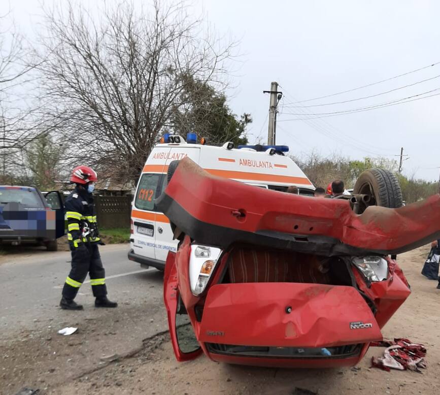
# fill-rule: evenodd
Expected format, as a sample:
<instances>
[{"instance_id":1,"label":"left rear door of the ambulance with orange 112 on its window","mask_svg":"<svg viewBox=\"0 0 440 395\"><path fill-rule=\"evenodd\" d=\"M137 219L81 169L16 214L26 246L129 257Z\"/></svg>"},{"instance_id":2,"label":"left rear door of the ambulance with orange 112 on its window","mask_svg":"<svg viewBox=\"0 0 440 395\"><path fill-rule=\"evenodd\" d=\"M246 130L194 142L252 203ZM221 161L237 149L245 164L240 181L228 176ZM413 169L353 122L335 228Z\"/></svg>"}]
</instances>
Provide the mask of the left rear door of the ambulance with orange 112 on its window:
<instances>
[{"instance_id":1,"label":"left rear door of the ambulance with orange 112 on its window","mask_svg":"<svg viewBox=\"0 0 440 395\"><path fill-rule=\"evenodd\" d=\"M165 160L169 152L168 147L157 147L151 152L139 179L131 210L133 252L147 259L158 259L156 223L163 214L157 212L154 200L162 192L164 181L166 184Z\"/></svg>"}]
</instances>

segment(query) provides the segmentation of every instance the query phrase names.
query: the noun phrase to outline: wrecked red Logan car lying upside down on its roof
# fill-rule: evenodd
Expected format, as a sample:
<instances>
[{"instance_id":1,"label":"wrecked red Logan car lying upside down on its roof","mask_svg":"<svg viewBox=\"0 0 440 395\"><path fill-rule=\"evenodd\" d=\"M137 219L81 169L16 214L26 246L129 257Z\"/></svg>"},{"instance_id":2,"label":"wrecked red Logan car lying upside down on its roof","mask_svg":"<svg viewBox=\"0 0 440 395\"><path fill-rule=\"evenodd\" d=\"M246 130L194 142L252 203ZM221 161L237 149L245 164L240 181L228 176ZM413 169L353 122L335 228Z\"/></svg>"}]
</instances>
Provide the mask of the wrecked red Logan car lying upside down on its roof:
<instances>
[{"instance_id":1,"label":"wrecked red Logan car lying upside down on its roof","mask_svg":"<svg viewBox=\"0 0 440 395\"><path fill-rule=\"evenodd\" d=\"M411 292L394 255L440 236L440 195L353 210L375 199L365 183L347 201L218 178L189 158L173 172L157 207L180 240L164 301L181 361L203 351L242 365L353 366Z\"/></svg>"}]
</instances>

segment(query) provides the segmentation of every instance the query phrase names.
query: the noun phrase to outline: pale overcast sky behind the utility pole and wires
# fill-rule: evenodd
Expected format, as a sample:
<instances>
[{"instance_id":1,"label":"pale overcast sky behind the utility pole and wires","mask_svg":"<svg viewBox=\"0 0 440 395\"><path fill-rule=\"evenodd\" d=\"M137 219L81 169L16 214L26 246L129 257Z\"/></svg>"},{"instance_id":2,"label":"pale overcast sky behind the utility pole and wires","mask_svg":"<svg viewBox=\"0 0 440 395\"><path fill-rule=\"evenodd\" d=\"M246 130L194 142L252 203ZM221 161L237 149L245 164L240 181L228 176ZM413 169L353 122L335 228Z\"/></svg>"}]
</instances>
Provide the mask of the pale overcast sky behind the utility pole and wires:
<instances>
[{"instance_id":1,"label":"pale overcast sky behind the utility pole and wires","mask_svg":"<svg viewBox=\"0 0 440 395\"><path fill-rule=\"evenodd\" d=\"M0 8L7 7L6 3L2 1ZM236 114L252 114L251 142L258 137L264 142L267 139L269 97L262 91L277 81L284 94L279 104L277 144L288 145L290 153L315 150L353 159L397 158L393 155L403 147L409 155L403 164L405 174L438 179L440 95L322 116L410 96L408 100L418 99L423 95L416 95L423 92L440 93L440 63L427 67L440 62L440 2L194 0L192 4L194 14L204 11L219 32L241 41L242 63L235 65L239 70L233 77L235 88L228 92L229 104ZM11 8L22 31L32 35L40 20L38 2L14 0ZM294 103L424 67L367 88ZM406 85L412 86L380 94ZM376 96L355 100L371 95ZM327 105L334 102L346 103ZM310 119L314 117L320 118Z\"/></svg>"}]
</instances>

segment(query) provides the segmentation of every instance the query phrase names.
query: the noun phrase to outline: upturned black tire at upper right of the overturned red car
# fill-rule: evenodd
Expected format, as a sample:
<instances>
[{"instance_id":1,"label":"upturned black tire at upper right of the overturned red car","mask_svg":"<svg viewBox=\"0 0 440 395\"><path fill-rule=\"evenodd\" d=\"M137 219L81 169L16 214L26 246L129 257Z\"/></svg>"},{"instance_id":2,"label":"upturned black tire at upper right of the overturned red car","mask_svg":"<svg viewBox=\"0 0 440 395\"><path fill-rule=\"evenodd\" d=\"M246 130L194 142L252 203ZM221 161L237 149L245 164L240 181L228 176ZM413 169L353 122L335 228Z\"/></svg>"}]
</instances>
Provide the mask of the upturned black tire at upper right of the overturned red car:
<instances>
[{"instance_id":1,"label":"upturned black tire at upper right of the overturned red car","mask_svg":"<svg viewBox=\"0 0 440 395\"><path fill-rule=\"evenodd\" d=\"M403 204L402 190L397 178L389 170L369 169L356 180L353 194L370 195L371 205L395 209Z\"/></svg>"}]
</instances>

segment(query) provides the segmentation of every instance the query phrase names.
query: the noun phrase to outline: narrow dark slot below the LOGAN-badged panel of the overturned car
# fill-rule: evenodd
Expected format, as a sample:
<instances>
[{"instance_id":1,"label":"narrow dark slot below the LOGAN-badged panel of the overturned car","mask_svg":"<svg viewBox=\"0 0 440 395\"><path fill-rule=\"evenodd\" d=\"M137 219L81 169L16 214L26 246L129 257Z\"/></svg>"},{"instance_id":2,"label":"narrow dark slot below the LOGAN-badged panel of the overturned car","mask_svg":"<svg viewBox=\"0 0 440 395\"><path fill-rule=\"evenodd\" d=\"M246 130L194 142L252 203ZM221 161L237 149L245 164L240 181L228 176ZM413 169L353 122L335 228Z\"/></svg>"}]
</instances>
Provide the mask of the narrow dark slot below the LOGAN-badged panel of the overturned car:
<instances>
[{"instance_id":1,"label":"narrow dark slot below the LOGAN-badged panel of the overturned car","mask_svg":"<svg viewBox=\"0 0 440 395\"><path fill-rule=\"evenodd\" d=\"M362 344L323 348L301 347L270 347L270 346L235 346L231 344L205 343L209 352L250 357L277 357L277 358L348 358L360 354Z\"/></svg>"}]
</instances>

